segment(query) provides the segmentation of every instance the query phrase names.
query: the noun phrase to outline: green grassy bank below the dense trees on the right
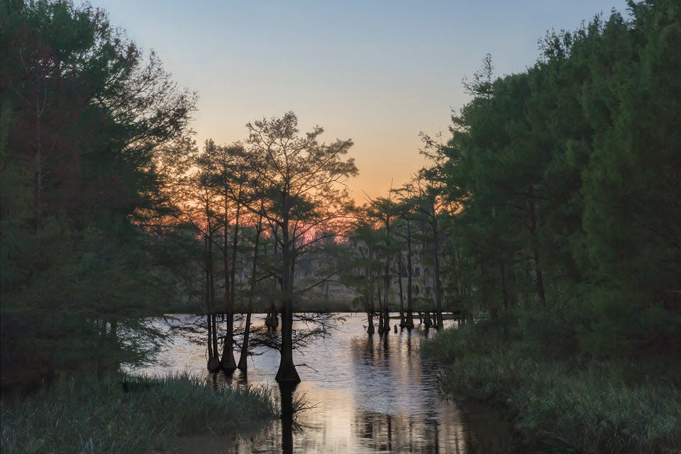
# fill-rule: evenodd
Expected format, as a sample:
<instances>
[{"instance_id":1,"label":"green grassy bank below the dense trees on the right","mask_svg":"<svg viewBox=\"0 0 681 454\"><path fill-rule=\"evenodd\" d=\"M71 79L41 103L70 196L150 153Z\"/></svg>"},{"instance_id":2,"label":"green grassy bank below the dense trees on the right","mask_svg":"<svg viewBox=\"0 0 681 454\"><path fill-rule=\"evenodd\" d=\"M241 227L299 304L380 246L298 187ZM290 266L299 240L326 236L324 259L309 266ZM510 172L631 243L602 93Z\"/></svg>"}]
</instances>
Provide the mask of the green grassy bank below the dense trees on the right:
<instances>
[{"instance_id":1,"label":"green grassy bank below the dense trees on the right","mask_svg":"<svg viewBox=\"0 0 681 454\"><path fill-rule=\"evenodd\" d=\"M539 341L481 321L422 348L446 365L445 389L503 407L549 452L681 453L680 360L586 360Z\"/></svg>"}]
</instances>

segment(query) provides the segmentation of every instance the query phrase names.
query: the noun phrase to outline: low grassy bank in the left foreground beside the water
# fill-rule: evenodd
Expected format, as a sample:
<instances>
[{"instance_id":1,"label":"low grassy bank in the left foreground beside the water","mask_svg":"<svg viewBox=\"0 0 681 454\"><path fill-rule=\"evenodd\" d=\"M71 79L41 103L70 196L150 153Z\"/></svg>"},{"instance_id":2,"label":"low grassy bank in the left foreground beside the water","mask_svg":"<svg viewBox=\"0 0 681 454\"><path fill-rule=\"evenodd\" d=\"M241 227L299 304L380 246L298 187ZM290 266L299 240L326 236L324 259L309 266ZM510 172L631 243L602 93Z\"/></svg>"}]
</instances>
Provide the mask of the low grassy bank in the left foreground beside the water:
<instances>
[{"instance_id":1,"label":"low grassy bank in the left foreground beside the water","mask_svg":"<svg viewBox=\"0 0 681 454\"><path fill-rule=\"evenodd\" d=\"M212 389L187 375L62 380L2 402L2 453L153 453L177 436L225 433L276 416L263 389Z\"/></svg>"}]
</instances>

